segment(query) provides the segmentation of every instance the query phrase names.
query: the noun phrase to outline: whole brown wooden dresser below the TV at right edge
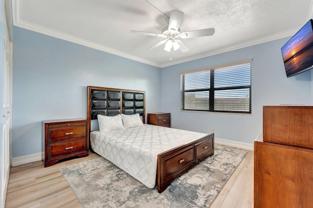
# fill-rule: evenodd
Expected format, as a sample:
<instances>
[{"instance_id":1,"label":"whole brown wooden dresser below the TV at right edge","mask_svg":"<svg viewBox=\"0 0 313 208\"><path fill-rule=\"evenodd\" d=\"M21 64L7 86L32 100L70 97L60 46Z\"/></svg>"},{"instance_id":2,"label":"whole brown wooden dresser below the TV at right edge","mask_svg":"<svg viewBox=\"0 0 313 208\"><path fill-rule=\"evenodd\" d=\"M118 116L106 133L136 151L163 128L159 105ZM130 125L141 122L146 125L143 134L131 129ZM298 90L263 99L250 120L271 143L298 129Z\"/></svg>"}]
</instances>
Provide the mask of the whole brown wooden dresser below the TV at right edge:
<instances>
[{"instance_id":1,"label":"whole brown wooden dresser below the TV at right edge","mask_svg":"<svg viewBox=\"0 0 313 208\"><path fill-rule=\"evenodd\" d=\"M254 208L313 205L313 106L264 106L254 141Z\"/></svg>"}]
</instances>

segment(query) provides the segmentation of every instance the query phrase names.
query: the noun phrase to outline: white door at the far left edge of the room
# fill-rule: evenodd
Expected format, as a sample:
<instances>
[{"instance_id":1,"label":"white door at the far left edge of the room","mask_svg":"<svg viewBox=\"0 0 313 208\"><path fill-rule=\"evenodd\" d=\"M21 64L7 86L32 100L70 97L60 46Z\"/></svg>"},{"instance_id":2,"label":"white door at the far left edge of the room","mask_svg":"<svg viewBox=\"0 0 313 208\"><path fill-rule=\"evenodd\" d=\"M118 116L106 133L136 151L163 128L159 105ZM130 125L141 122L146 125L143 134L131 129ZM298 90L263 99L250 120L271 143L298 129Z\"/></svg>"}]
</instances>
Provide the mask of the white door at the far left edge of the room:
<instances>
[{"instance_id":1,"label":"white door at the far left edge of the room","mask_svg":"<svg viewBox=\"0 0 313 208\"><path fill-rule=\"evenodd\" d=\"M9 173L11 166L11 147L10 147L10 132L11 132L11 70L10 70L10 39L6 21L4 21L4 69L3 69L3 126L2 126L2 207L5 204L6 189L9 181ZM1 207L0 206L0 207Z\"/></svg>"}]
</instances>

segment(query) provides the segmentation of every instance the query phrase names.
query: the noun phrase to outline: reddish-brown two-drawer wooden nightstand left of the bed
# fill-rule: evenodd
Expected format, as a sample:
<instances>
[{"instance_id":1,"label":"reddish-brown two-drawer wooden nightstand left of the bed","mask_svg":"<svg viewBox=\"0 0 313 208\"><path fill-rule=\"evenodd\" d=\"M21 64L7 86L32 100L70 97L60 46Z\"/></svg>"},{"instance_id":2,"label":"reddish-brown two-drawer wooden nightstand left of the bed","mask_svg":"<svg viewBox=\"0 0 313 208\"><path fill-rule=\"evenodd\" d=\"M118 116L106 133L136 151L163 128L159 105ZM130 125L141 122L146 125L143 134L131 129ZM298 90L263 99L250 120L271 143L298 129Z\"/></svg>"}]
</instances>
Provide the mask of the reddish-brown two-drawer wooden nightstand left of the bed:
<instances>
[{"instance_id":1,"label":"reddish-brown two-drawer wooden nightstand left of the bed","mask_svg":"<svg viewBox=\"0 0 313 208\"><path fill-rule=\"evenodd\" d=\"M64 119L42 122L42 160L45 167L73 156L89 155L86 119Z\"/></svg>"}]
</instances>

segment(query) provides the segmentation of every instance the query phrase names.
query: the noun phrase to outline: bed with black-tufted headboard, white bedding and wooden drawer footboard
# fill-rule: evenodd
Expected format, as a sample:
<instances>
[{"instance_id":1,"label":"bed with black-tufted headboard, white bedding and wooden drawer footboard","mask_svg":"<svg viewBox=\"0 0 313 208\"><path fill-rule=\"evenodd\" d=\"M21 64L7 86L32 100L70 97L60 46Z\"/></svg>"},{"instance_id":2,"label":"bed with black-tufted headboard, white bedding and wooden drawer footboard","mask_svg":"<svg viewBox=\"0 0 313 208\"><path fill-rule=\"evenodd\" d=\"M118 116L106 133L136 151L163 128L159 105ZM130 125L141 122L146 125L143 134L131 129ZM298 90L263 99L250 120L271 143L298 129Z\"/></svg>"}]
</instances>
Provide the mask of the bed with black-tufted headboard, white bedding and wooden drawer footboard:
<instances>
[{"instance_id":1,"label":"bed with black-tufted headboard, white bedding and wooden drawer footboard","mask_svg":"<svg viewBox=\"0 0 313 208\"><path fill-rule=\"evenodd\" d=\"M88 86L87 119L92 150L159 193L214 154L214 134L145 124L144 91Z\"/></svg>"}]
</instances>

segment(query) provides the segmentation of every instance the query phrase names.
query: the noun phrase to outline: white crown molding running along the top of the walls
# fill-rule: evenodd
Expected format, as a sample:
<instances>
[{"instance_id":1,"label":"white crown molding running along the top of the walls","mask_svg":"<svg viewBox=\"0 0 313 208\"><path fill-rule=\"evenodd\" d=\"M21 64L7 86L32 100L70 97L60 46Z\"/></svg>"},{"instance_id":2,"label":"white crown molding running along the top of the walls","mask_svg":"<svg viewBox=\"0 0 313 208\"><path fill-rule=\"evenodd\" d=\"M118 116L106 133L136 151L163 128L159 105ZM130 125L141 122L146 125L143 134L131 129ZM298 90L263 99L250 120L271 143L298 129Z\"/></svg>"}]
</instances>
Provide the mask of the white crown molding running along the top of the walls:
<instances>
[{"instance_id":1,"label":"white crown molding running along the top of the walls","mask_svg":"<svg viewBox=\"0 0 313 208\"><path fill-rule=\"evenodd\" d=\"M156 62L151 62L151 61L146 60L146 59L142 59L142 58L139 58L139 57L127 54L127 53L123 53L121 51L118 51L118 50L115 50L115 49L112 49L109 47L105 47L103 45L100 45L100 44L97 44L94 42L89 42L89 41L86 41L86 40L83 40L83 39L80 39L80 38L77 38L74 36L67 35L65 33L61 33L61 32L55 31L55 30L51 30L49 28L45 28L45 27L33 24L31 22L23 21L21 19L21 1L22 0L12 0L12 13L13 13L13 24L14 24L14 26L21 27L21 28L31 30L34 32L42 33L42 34L45 34L45 35L48 35L48 36L51 36L54 38L62 39L62 40L68 41L68 42L73 42L73 43L77 43L80 45L84 45L84 46L87 46L90 48L94 48L94 49L101 50L101 51L104 51L107 53L111 53L111 54L114 54L117 56L121 56L121 57L130 59L130 60L134 60L137 62L142 62L142 63L146 63L149 65L153 65L153 66L156 66L159 68L163 68L163 67L167 67L167 66L171 66L171 65L176 65L179 63L183 63L183 62L189 62L189 61L193 61L193 60L201 59L204 57L225 53L228 51L232 51L232 50L236 50L236 49L240 49L240 48L244 48L244 47L248 47L248 46L252 46L252 45L256 45L256 44L260 44L260 43L264 43L264 42L269 42L269 41L274 41L274 40L278 40L281 38L290 37L290 36L293 36L300 29L300 27L299 27L299 28L291 29L291 30L288 30L285 32L281 32L281 33L269 35L266 37L262 37L259 39L255 39L252 41L242 42L242 43L235 44L235 45L232 45L229 47L224 47L224 48L220 48L217 50L209 51L207 53L200 54L197 56L179 59L179 60L171 61L171 62L164 63L164 64L158 64ZM308 18L312 14L313 14L313 9L311 7L311 9L308 13ZM309 18L309 19L311 19L311 18Z\"/></svg>"}]
</instances>

